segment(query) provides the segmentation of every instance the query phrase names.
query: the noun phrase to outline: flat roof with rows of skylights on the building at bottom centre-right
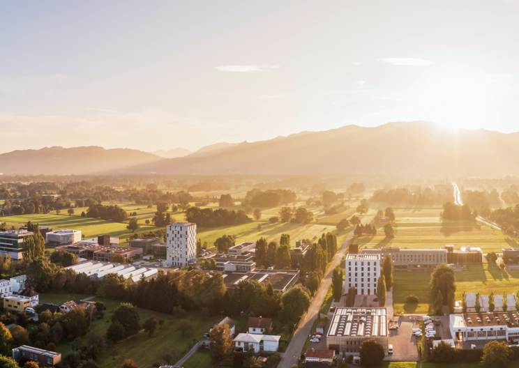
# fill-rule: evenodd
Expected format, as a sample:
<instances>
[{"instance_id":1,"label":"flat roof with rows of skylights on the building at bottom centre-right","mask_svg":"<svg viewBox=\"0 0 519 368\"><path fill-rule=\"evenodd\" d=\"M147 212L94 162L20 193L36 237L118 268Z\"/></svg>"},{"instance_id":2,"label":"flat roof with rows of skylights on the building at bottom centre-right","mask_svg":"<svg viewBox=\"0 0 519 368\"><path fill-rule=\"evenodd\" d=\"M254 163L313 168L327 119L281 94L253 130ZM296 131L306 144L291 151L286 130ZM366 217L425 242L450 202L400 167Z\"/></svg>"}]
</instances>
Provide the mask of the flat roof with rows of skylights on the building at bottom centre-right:
<instances>
[{"instance_id":1,"label":"flat roof with rows of skylights on the building at bottom centre-right","mask_svg":"<svg viewBox=\"0 0 519 368\"><path fill-rule=\"evenodd\" d=\"M385 337L386 308L337 308L331 319L328 336Z\"/></svg>"}]
</instances>

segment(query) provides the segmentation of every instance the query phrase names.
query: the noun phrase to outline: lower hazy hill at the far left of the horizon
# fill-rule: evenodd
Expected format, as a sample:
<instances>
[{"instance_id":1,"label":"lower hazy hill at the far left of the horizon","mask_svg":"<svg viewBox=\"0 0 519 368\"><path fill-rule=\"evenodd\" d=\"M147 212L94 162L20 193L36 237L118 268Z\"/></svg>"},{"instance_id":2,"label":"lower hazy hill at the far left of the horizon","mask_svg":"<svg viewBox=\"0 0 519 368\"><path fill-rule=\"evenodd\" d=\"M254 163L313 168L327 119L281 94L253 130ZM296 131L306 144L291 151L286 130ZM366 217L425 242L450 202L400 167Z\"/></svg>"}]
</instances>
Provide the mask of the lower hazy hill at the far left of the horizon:
<instances>
[{"instance_id":1,"label":"lower hazy hill at the far left of the horizon","mask_svg":"<svg viewBox=\"0 0 519 368\"><path fill-rule=\"evenodd\" d=\"M128 148L50 147L0 154L3 174L99 174L155 164L165 158Z\"/></svg>"}]
</instances>

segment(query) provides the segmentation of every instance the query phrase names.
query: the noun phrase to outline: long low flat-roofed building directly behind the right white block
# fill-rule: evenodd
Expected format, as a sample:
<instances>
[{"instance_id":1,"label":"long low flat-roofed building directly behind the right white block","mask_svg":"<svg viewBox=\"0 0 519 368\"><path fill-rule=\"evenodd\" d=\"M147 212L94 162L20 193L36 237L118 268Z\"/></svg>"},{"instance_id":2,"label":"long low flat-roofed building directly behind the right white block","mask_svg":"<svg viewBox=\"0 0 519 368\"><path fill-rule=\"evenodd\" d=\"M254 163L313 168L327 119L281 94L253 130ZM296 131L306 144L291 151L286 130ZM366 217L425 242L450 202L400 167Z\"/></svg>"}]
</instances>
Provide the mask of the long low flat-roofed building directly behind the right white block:
<instances>
[{"instance_id":1,"label":"long low flat-roofed building directly behind the right white block","mask_svg":"<svg viewBox=\"0 0 519 368\"><path fill-rule=\"evenodd\" d=\"M447 263L446 249L401 249L400 247L382 247L361 249L359 254L379 254L384 261L391 256L393 270L434 270L438 265Z\"/></svg>"}]
</instances>

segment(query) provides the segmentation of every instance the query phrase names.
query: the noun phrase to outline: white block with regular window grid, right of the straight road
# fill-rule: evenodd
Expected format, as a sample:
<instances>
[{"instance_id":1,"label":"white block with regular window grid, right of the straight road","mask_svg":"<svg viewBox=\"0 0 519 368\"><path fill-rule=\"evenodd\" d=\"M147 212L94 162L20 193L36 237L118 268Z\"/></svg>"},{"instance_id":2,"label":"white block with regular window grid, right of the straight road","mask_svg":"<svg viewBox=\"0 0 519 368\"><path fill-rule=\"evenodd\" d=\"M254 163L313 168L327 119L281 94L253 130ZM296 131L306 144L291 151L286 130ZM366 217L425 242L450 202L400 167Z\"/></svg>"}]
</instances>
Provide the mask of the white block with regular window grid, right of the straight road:
<instances>
[{"instance_id":1,"label":"white block with regular window grid, right of the straight road","mask_svg":"<svg viewBox=\"0 0 519 368\"><path fill-rule=\"evenodd\" d=\"M380 254L347 254L345 262L345 293L354 286L359 295L377 294Z\"/></svg>"}]
</instances>

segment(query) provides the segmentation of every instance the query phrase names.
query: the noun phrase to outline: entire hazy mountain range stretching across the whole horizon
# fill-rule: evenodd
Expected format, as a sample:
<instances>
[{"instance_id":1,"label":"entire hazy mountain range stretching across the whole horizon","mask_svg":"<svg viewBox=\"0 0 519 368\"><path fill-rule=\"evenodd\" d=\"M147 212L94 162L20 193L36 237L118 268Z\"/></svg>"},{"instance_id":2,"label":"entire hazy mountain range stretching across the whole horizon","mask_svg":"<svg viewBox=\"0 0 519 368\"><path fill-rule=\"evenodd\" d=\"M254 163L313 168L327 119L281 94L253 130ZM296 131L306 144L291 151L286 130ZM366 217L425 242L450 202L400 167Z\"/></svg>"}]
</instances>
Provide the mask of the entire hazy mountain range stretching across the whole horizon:
<instances>
[{"instance_id":1,"label":"entire hazy mountain range stretching across the whole horizon","mask_svg":"<svg viewBox=\"0 0 519 368\"><path fill-rule=\"evenodd\" d=\"M186 150L187 151L187 150ZM519 133L450 130L434 123L347 125L240 144L182 158L131 149L43 148L0 155L4 174L519 175Z\"/></svg>"}]
</instances>

